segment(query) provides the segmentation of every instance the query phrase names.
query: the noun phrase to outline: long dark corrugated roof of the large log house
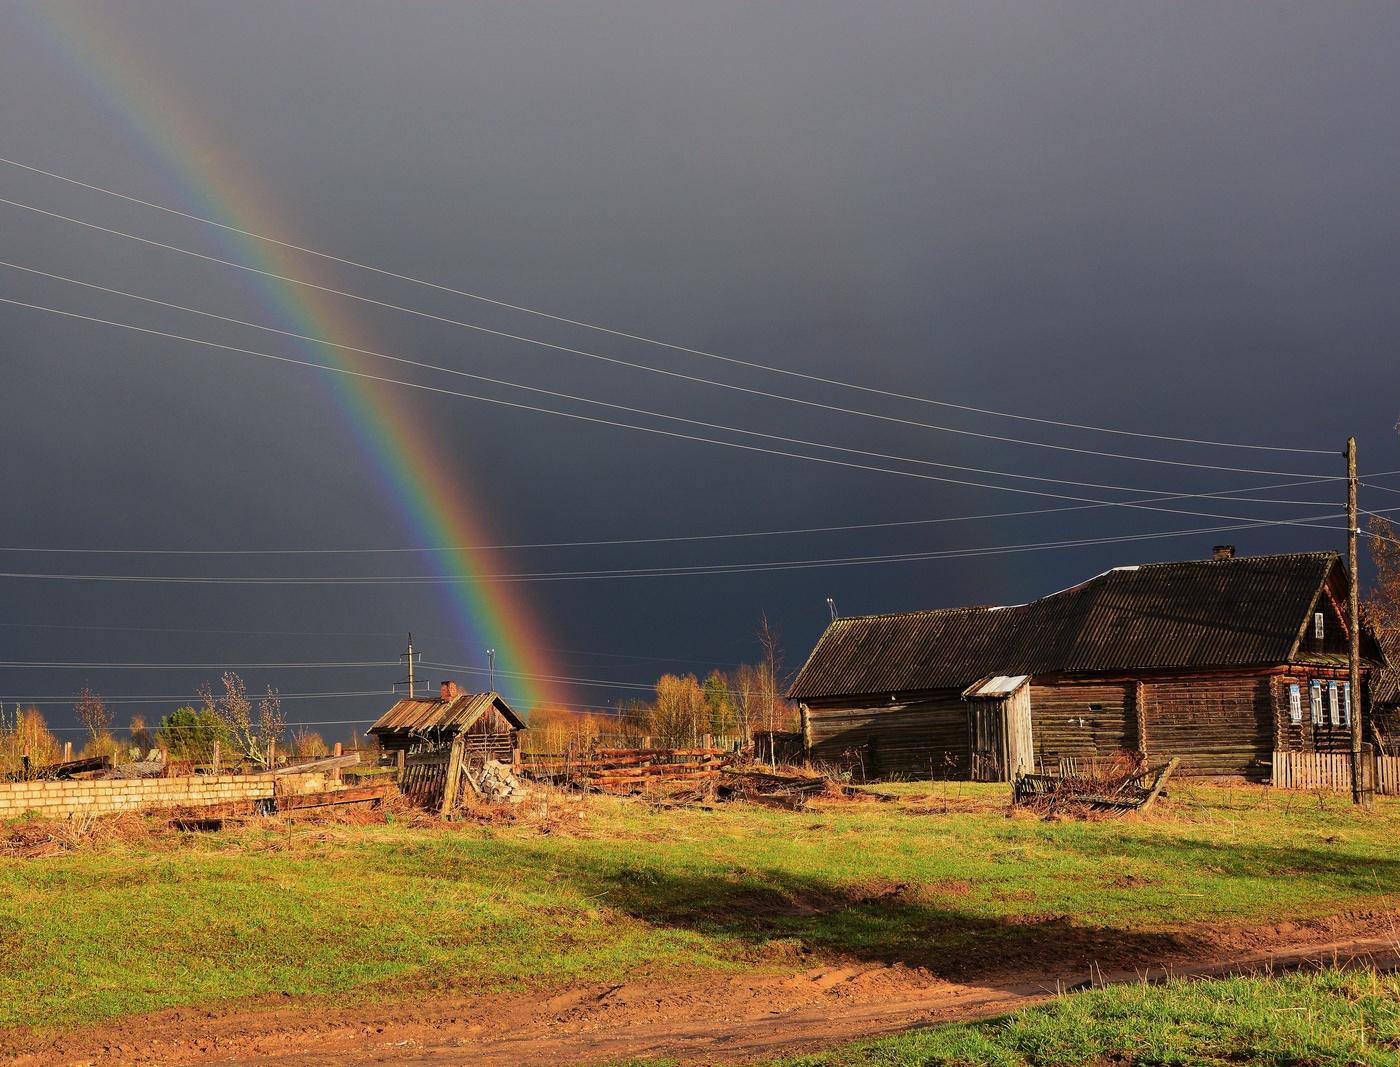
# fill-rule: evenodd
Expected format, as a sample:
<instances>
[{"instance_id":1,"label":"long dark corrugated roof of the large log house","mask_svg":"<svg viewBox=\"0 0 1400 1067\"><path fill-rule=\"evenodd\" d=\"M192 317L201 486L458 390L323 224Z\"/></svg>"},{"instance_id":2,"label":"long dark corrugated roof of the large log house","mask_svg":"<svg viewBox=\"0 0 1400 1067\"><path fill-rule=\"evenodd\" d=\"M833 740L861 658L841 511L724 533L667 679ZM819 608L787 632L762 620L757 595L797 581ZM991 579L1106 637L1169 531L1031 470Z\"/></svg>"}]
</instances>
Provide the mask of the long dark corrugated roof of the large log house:
<instances>
[{"instance_id":1,"label":"long dark corrugated roof of the large log house","mask_svg":"<svg viewBox=\"0 0 1400 1067\"><path fill-rule=\"evenodd\" d=\"M1329 578L1347 588L1336 552L1151 563L1014 608L836 619L788 696L952 689L988 675L1313 662L1299 646ZM1362 655L1383 662L1369 634Z\"/></svg>"}]
</instances>

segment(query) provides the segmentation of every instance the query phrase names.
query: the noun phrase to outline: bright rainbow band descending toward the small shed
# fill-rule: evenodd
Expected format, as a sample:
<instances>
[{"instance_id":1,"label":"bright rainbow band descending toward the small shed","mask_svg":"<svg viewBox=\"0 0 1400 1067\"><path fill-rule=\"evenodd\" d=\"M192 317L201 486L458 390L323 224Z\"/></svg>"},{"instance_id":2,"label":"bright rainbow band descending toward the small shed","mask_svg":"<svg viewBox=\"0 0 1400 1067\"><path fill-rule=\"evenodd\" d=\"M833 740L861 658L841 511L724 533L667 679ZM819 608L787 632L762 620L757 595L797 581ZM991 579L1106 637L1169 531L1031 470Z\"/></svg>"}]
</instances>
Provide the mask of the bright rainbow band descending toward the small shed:
<instances>
[{"instance_id":1,"label":"bright rainbow band descending toward the small shed","mask_svg":"<svg viewBox=\"0 0 1400 1067\"><path fill-rule=\"evenodd\" d=\"M92 95L130 132L151 162L183 200L182 210L249 232L294 241L293 230L272 210L266 189L217 143L211 127L197 120L175 94L158 87L150 64L123 45L115 27L95 10L59 4L25 4L18 11L88 85ZM284 273L269 248L252 238L211 228L227 258L258 270ZM300 276L315 281L308 270ZM323 364L375 372L370 358L346 349L374 349L365 332L330 297L286 281L249 274L279 326L326 344L302 343ZM549 644L519 587L494 583L504 573L491 552L486 522L472 508L466 472L448 463L423 428L423 419L405 402L403 391L344 374L314 372L335 410L344 419L385 491L423 548L433 549L449 609L462 640L462 658L484 667L487 648L497 653L503 695L521 711L563 703L554 688L559 671L546 661ZM475 546L475 548L473 548Z\"/></svg>"}]
</instances>

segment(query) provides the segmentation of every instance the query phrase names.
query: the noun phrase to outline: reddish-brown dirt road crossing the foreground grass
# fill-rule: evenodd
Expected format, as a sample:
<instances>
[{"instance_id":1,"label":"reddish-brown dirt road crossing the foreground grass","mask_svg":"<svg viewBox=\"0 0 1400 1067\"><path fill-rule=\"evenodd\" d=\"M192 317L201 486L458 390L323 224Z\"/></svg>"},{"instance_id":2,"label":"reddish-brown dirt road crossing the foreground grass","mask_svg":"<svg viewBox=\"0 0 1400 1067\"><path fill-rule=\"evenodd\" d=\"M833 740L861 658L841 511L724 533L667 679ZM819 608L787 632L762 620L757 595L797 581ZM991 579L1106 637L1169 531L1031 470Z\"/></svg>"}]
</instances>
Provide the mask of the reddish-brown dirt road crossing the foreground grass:
<instances>
[{"instance_id":1,"label":"reddish-brown dirt road crossing the foreground grass","mask_svg":"<svg viewBox=\"0 0 1400 1067\"><path fill-rule=\"evenodd\" d=\"M13 1032L0 1052L15 1067L59 1064L413 1064L560 1067L629 1057L746 1061L997 1015L1091 982L1175 975L1221 976L1267 968L1400 966L1394 916L1329 920L1312 928L1236 931L1233 952L1141 966L1015 970L990 966L948 982L902 965L832 965L801 975L743 975L577 986L539 997L405 997L371 1008L286 998L227 1010L171 1010L57 1038ZM1217 940L1224 948L1231 938ZM1253 948L1243 949L1243 944ZM1107 954L1106 958L1113 958Z\"/></svg>"}]
</instances>

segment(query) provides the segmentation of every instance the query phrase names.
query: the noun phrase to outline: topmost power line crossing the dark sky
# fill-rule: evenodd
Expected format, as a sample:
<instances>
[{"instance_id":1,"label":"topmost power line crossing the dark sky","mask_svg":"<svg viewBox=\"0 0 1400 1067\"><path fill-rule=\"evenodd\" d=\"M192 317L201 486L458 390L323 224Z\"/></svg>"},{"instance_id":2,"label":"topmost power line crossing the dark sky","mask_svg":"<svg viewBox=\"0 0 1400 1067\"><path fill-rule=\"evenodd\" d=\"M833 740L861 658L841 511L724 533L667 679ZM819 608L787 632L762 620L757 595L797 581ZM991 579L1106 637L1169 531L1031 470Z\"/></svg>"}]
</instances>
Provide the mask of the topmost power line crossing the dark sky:
<instances>
[{"instance_id":1,"label":"topmost power line crossing the dark sky","mask_svg":"<svg viewBox=\"0 0 1400 1067\"><path fill-rule=\"evenodd\" d=\"M846 381L840 381L840 379L836 379L836 378L825 378L825 377L820 377L820 375L805 374L802 371L792 371L792 370L787 370L787 368L783 368L783 367L771 367L769 364L755 363L755 361L749 361L749 360L741 360L741 358L736 358L736 357L732 357L732 356L720 356L717 353L706 351L703 349L693 349L693 347L683 346L683 344L673 344L671 342L657 340L654 337L647 337L644 335L629 333L626 330L612 329L612 328L608 328L608 326L599 326L599 325L595 325L595 323L591 323L591 322L585 322L585 321L581 321L581 319L573 319L573 318L567 318L564 315L554 315L554 314L550 314L550 312L546 312L546 311L539 311L539 309L535 309L535 308L528 308L528 307L524 307L521 304L510 304L507 301L496 300L496 298L486 297L486 295L482 295L482 294L477 294L477 293L469 293L466 290L452 288L451 286L444 286L444 284L440 284L440 283L435 283L435 281L427 281L424 279L413 277L412 274L403 274L403 273L398 273L398 272L393 272L393 270L385 270L382 267L370 266L367 263L361 263L361 262L353 260L353 259L346 259L346 258L342 258L342 256L330 255L328 252L319 252L319 251L312 249L312 248L307 248L307 246L302 246L302 245L295 245L295 244L291 244L288 241L279 241L277 238L266 237L263 234L258 234L258 232L253 232L251 230L242 230L239 227L228 225L227 223L214 221L213 218L206 218L203 216L196 216L196 214L190 214L188 211L181 211L178 209L167 207L164 204L153 203L150 200L141 200L139 197L127 196L126 193L119 193L119 192L115 192L112 189L104 189L102 186L90 185L90 183L81 182L81 181L76 179L76 178L69 178L66 175L60 175L60 174L55 174L52 171L41 169L38 167L31 167L28 164L18 162L15 160L8 160L8 158L4 158L4 157L0 157L0 162L6 162L6 164L10 164L11 167L18 167L18 168L22 168L25 171L31 171L34 174L41 174L41 175L45 175L48 178L56 178L59 181L63 181L63 182L70 182L73 185L81 186L84 189L90 189L92 192L99 192L99 193L104 193L104 195L108 195L108 196L115 196L115 197L119 197L122 200L127 200L130 203L141 204L143 207L151 207L151 209L158 210L158 211L167 211L169 214L179 216L182 218L188 218L190 221L200 223L203 225L216 227L216 228L224 230L227 232L234 232L234 234L238 234L241 237L248 237L248 238L252 238L255 241L265 241L267 244L277 245L280 248L286 248L286 249L295 251L295 252L304 252L307 255L312 255L312 256L316 256L319 259L325 259L325 260L329 260L329 262L340 263L343 266L351 266L351 267L356 267L356 269L360 269L360 270L367 270L367 272L371 272L374 274L379 274L382 277L392 277L392 279L399 280L399 281L407 281L407 283L412 283L412 284L424 286L424 287L437 290L440 293L448 293L448 294L452 294L452 295L465 297L468 300L480 301L483 304L490 304L493 307L505 308L505 309L510 309L510 311L519 311L519 312L526 314L526 315L535 315L538 318L549 319L552 322L559 322L559 323L564 323L564 325L570 325L570 326L578 326L581 329L595 330L598 333L605 333L605 335L609 335L609 336L613 336L613 337L620 337L620 339L624 339L624 340L634 340L634 342L640 342L643 344L654 344L657 347L668 349L671 351L679 351L679 353L685 353L685 354L689 354L689 356L700 356L703 358L718 360L718 361L734 364L734 365L739 365L739 367L748 367L750 370L760 370L760 371L766 371L766 372L770 372L770 374L781 374L781 375L787 375L787 377L792 377L792 378L799 378L799 379L804 379L804 381L818 382L818 384L822 384L822 385L834 385L834 386L839 386L839 388L854 389L854 391L858 391L858 392L871 393L871 395L876 395L876 396L885 396L885 398L889 398L889 399L911 400L911 402L916 402L916 403L928 403L928 405L935 405L935 406L939 406L939 407L948 407L948 409L952 409L952 410L969 412L969 413L974 413L974 414L988 414L988 416L995 416L995 417L1000 417L1000 419L1014 419L1014 420L1018 420L1018 421L1036 423L1036 424L1040 424L1040 426L1056 426L1056 427L1061 427L1061 428L1088 430L1088 431L1093 431L1093 433L1116 434L1116 435L1121 435L1121 437L1134 437L1134 438L1140 438L1140 440L1169 441L1169 442L1175 442L1175 444L1210 445L1210 447L1217 447L1217 448L1246 448L1246 449L1254 449L1254 451L1295 452L1295 454L1305 454L1305 455L1331 455L1333 454L1330 449L1320 449L1320 448L1288 448L1288 447L1278 447L1278 445L1240 444L1240 442L1233 442L1233 441L1210 441L1210 440L1190 438L1190 437L1170 437L1170 435L1165 435L1165 434L1148 434L1148 433L1134 431L1134 430L1116 430L1116 428L1110 428L1110 427L1089 426L1089 424L1084 424L1084 423L1070 423L1070 421L1061 421L1061 420L1054 420L1054 419L1037 419L1037 417L1033 417L1033 416L1012 414L1012 413L1008 413L1008 412L997 412L997 410L987 409L987 407L974 407L974 406L970 406L970 405L951 403L951 402L946 402L946 400L934 400L934 399L924 398L924 396L914 396L914 395L900 393L900 392L895 392L895 391L889 391L889 389L879 389L879 388L867 386L867 385L857 385L854 382L846 382ZM4 203L13 203L13 202L4 200ZM27 210L32 210L32 211L41 211L41 209L29 207L28 204L15 203L14 206L22 207L22 209L27 209ZM55 213L43 211L43 214L55 214ZM94 225L91 223L83 223L80 220L67 218L66 216L56 216L55 214L55 217L64 218L66 221L70 221L70 223L77 223L78 225ZM102 230L102 227L95 227L95 228ZM119 234L119 231L108 231L108 232ZM122 237L129 237L130 239L137 239L137 241L143 239L143 238L132 237L130 234L120 234L120 235ZM188 255L199 255L199 253L195 253L195 252L188 252L188 249L181 249L181 248L174 248L174 251L186 252ZM210 256L204 256L204 258L211 259ZM216 260L216 262L223 262L223 260ZM228 263L228 266L235 266L238 269L248 269L248 270L252 269L252 267L245 267L245 266L242 266L239 263ZM259 273L265 273L265 272L259 272ZM276 276L273 276L273 277L276 277ZM279 279L279 280L295 281L297 284L309 284L309 283L301 283L297 279ZM332 290L326 290L326 291L329 293ZM353 294L339 294L339 295L358 298L358 297L354 297ZM389 305L385 305L385 307L389 307ZM410 312L410 314L413 314L413 312ZM468 323L458 323L458 325L468 325ZM648 370L655 370L655 368L648 368Z\"/></svg>"}]
</instances>

